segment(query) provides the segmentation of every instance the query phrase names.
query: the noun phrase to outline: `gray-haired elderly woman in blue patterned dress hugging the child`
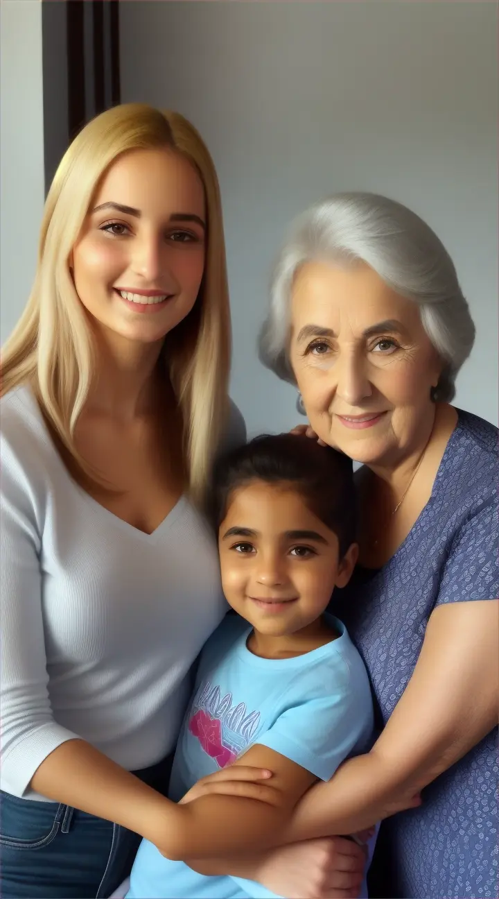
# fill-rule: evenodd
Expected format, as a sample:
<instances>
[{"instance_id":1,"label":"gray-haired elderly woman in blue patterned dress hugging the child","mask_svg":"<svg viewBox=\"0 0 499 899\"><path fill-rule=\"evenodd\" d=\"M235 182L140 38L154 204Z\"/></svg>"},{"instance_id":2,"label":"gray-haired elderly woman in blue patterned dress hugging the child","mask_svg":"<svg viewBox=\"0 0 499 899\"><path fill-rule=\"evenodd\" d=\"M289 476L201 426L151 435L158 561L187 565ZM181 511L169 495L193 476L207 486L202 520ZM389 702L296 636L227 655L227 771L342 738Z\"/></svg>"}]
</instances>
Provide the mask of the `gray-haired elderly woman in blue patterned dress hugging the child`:
<instances>
[{"instance_id":1,"label":"gray-haired elderly woman in blue patterned dress hugging the child","mask_svg":"<svg viewBox=\"0 0 499 899\"><path fill-rule=\"evenodd\" d=\"M410 808L381 827L374 895L499 893L497 431L450 405L474 336L449 254L409 209L341 194L293 227L261 358L320 440L363 463L360 564L335 611L381 730L305 797L293 836Z\"/></svg>"}]
</instances>

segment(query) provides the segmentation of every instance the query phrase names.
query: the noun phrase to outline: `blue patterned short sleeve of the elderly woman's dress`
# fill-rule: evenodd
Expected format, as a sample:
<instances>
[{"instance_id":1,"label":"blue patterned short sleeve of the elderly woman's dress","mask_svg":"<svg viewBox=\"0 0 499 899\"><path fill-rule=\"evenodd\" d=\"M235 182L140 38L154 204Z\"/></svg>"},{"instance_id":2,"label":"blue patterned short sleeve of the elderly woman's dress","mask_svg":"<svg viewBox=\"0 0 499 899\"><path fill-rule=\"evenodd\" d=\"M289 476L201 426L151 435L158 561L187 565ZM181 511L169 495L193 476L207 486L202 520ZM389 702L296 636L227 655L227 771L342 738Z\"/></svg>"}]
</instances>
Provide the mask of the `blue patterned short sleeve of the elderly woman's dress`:
<instances>
[{"instance_id":1,"label":"blue patterned short sleeve of the elderly woman's dress","mask_svg":"<svg viewBox=\"0 0 499 899\"><path fill-rule=\"evenodd\" d=\"M443 568L435 605L499 598L499 515L490 499L462 525Z\"/></svg>"}]
</instances>

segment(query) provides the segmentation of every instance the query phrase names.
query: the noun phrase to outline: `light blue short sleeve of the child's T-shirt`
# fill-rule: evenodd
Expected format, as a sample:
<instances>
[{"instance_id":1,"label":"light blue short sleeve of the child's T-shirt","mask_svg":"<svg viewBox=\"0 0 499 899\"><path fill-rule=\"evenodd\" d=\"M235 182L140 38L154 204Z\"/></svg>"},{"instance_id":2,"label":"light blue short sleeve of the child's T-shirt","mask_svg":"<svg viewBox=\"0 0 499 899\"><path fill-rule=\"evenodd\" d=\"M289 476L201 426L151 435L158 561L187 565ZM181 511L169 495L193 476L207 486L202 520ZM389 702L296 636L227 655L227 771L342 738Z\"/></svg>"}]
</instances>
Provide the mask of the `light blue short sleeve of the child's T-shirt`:
<instances>
[{"instance_id":1,"label":"light blue short sleeve of the child's T-shirt","mask_svg":"<svg viewBox=\"0 0 499 899\"><path fill-rule=\"evenodd\" d=\"M287 708L256 743L280 752L316 778L329 780L371 730L371 697L366 693L363 699L346 687Z\"/></svg>"}]
</instances>

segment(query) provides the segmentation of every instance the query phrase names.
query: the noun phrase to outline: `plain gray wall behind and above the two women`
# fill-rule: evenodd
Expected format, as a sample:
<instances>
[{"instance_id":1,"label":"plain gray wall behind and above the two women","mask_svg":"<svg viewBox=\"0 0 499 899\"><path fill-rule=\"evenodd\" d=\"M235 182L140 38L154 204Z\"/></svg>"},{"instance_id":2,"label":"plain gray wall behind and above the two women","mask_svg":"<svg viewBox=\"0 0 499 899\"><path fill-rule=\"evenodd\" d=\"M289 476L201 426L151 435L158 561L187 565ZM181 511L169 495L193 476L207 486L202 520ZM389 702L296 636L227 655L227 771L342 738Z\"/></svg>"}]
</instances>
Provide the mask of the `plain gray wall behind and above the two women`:
<instances>
[{"instance_id":1,"label":"plain gray wall behind and above the two women","mask_svg":"<svg viewBox=\"0 0 499 899\"><path fill-rule=\"evenodd\" d=\"M442 237L477 324L457 402L497 419L497 9L469 3L120 3L122 102L200 129L223 193L232 396L250 432L296 422L257 360L290 218L338 190L386 193Z\"/></svg>"}]
</instances>

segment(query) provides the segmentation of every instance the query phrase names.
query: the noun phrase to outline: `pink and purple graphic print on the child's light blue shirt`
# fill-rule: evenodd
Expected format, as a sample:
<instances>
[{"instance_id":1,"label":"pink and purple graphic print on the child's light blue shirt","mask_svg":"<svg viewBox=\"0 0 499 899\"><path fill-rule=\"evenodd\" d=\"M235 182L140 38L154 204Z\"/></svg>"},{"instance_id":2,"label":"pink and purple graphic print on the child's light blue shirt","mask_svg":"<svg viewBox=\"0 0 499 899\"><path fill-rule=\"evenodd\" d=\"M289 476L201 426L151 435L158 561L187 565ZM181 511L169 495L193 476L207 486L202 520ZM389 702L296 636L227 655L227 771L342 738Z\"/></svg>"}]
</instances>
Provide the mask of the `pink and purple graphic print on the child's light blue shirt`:
<instances>
[{"instance_id":1,"label":"pink and purple graphic print on the child's light blue shirt","mask_svg":"<svg viewBox=\"0 0 499 899\"><path fill-rule=\"evenodd\" d=\"M220 688L208 681L193 704L188 730L218 767L225 768L248 748L259 717L257 711L248 714L244 702L232 708L232 693L221 698Z\"/></svg>"}]
</instances>

